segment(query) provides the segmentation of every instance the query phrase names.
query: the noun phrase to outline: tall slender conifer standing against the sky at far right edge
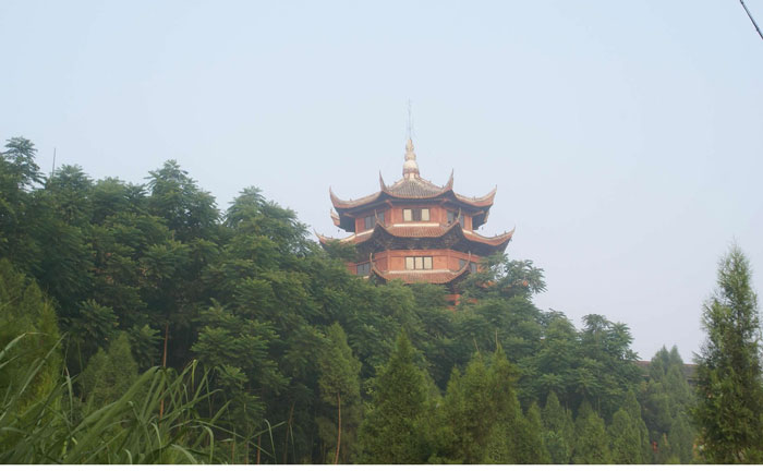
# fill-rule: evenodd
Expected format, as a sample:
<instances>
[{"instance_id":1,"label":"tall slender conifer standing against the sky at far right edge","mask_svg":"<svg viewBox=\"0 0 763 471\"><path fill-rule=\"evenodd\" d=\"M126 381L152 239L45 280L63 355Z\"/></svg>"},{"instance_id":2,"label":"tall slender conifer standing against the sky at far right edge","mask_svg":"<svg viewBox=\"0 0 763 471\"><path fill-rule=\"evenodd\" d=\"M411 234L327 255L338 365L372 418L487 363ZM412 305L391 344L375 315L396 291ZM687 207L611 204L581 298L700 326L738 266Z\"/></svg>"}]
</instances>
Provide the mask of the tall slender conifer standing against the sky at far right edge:
<instances>
[{"instance_id":1,"label":"tall slender conifer standing against the sky at far right edge","mask_svg":"<svg viewBox=\"0 0 763 471\"><path fill-rule=\"evenodd\" d=\"M704 303L707 339L697 358L694 418L702 454L713 463L763 459L763 384L758 297L750 263L732 245L718 266L718 286Z\"/></svg>"}]
</instances>

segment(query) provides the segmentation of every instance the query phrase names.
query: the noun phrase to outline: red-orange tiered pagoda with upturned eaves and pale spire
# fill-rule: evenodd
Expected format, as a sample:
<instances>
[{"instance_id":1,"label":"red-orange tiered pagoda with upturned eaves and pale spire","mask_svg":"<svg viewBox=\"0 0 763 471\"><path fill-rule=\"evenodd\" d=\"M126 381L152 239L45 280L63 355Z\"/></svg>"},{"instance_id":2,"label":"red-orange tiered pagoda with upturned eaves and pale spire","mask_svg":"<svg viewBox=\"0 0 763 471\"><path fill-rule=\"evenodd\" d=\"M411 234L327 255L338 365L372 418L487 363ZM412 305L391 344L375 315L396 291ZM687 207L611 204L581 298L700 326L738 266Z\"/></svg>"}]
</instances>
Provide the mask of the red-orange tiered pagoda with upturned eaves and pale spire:
<instances>
[{"instance_id":1,"label":"red-orange tiered pagoda with upturned eaves and pale spire","mask_svg":"<svg viewBox=\"0 0 763 471\"><path fill-rule=\"evenodd\" d=\"M408 140L402 179L387 185L379 173L379 191L359 200L340 200L329 188L331 219L351 235L331 241L353 244L358 257L348 263L355 275L385 282L444 285L458 299L458 282L476 271L480 262L504 252L513 230L484 237L476 230L487 221L496 189L482 197L453 192L453 173L444 186L421 178L413 142Z\"/></svg>"}]
</instances>

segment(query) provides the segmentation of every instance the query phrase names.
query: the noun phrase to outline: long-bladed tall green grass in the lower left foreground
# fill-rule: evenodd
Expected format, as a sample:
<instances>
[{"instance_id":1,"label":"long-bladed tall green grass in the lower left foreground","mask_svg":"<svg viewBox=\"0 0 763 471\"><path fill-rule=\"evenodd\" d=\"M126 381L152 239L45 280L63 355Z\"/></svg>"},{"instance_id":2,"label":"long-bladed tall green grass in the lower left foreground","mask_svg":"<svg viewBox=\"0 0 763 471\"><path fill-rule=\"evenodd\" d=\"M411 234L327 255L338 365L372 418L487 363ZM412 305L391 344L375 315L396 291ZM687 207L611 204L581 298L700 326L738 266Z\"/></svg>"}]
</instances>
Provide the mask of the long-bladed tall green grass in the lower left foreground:
<instances>
[{"instance_id":1,"label":"long-bladed tall green grass in the lower left foreground","mask_svg":"<svg viewBox=\"0 0 763 471\"><path fill-rule=\"evenodd\" d=\"M22 361L17 350L26 335L0 351L0 377L4 377L3 370ZM206 373L197 377L196 362L179 374L152 367L121 398L86 411L82 418L72 378L65 374L50 391L29 401L29 386L57 354L57 348L34 359L22 375L4 379L8 384L2 385L4 395L0 398L0 463L221 463L235 442L256 449L253 439L269 433L265 430L244 438L216 426L227 404L214 416L202 418L199 406L217 391L209 389ZM28 406L21 408L22 401ZM222 443L220 436L226 437ZM275 457L275 449L261 451Z\"/></svg>"}]
</instances>

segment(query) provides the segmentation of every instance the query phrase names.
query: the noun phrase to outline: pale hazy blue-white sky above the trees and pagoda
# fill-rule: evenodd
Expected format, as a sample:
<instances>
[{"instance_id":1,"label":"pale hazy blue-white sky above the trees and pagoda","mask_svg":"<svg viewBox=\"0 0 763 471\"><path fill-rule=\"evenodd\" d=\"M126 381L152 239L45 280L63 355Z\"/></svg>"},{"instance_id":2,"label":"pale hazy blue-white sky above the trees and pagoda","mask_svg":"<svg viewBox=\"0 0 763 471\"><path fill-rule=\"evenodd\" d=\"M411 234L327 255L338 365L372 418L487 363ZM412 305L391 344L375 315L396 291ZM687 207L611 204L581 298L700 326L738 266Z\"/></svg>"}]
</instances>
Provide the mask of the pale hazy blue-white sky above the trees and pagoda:
<instances>
[{"instance_id":1,"label":"pale hazy blue-white sky above the trees and pagoda","mask_svg":"<svg viewBox=\"0 0 763 471\"><path fill-rule=\"evenodd\" d=\"M763 0L748 0L763 22ZM735 0L0 2L0 138L47 171L142 182L177 159L341 237L328 186L422 176L545 269L542 309L625 322L649 359L703 339L736 239L763 290L763 41Z\"/></svg>"}]
</instances>

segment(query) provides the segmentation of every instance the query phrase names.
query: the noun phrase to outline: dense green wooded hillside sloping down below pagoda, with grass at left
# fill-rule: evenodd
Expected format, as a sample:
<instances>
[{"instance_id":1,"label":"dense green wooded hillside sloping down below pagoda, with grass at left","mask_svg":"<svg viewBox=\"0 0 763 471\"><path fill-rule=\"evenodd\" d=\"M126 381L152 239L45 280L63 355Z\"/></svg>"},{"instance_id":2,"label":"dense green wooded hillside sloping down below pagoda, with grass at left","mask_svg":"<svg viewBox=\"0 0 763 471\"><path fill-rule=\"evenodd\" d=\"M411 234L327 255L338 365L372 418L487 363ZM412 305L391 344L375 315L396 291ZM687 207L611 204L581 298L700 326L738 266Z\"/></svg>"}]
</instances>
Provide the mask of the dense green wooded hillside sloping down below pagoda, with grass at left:
<instances>
[{"instance_id":1,"label":"dense green wooded hillside sloping down below pagoda, with grass at left","mask_svg":"<svg viewBox=\"0 0 763 471\"><path fill-rule=\"evenodd\" d=\"M494 258L449 307L350 275L256 188L220 210L177 162L145 184L0 159L1 462L690 463L677 350L543 312ZM510 255L510 254L509 254Z\"/></svg>"}]
</instances>

